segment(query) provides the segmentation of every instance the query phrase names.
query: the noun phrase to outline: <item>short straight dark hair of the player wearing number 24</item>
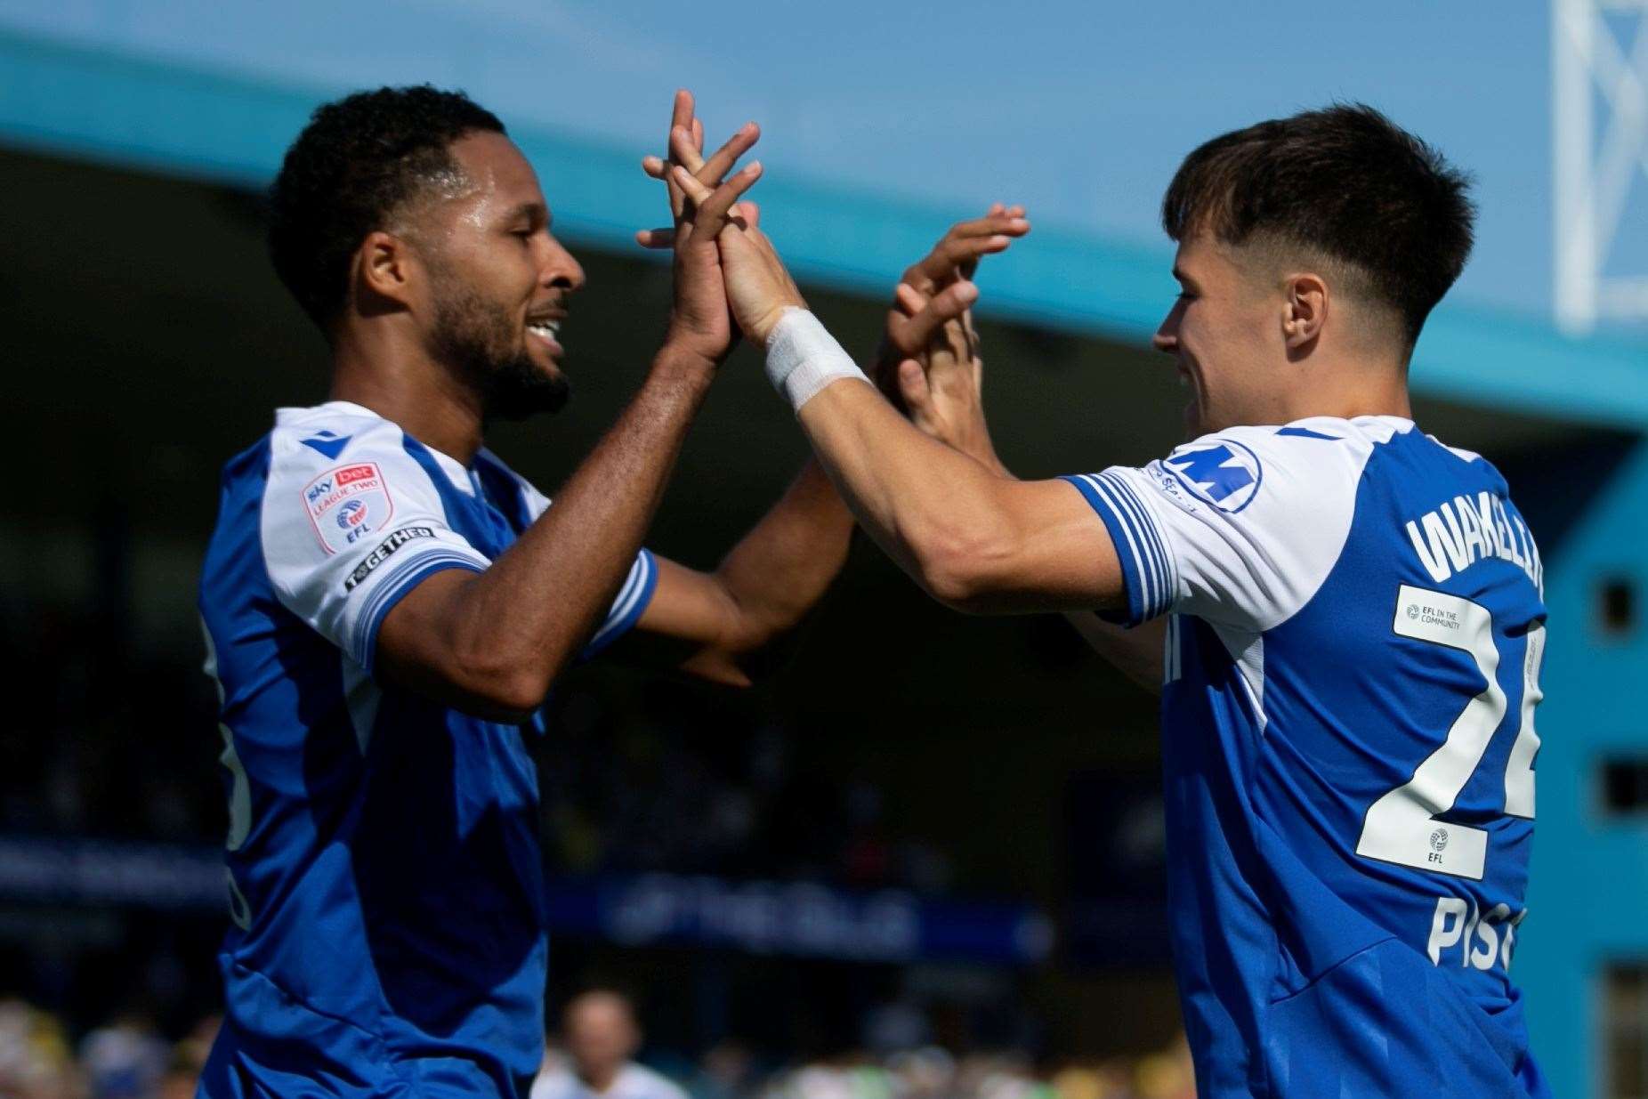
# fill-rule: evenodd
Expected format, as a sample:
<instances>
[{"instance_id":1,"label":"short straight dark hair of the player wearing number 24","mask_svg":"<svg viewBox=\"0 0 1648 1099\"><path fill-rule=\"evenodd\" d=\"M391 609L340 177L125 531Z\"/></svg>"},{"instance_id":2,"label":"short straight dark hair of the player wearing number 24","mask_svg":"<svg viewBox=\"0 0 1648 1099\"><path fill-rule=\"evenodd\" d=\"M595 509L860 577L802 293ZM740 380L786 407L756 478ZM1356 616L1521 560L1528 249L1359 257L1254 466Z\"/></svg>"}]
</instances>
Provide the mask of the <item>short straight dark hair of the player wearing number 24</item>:
<instances>
[{"instance_id":1,"label":"short straight dark hair of the player wearing number 24","mask_svg":"<svg viewBox=\"0 0 1648 1099\"><path fill-rule=\"evenodd\" d=\"M1396 311L1411 349L1470 255L1470 176L1366 104L1233 130L1185 157L1162 199L1173 241L1210 232L1315 250Z\"/></svg>"}]
</instances>

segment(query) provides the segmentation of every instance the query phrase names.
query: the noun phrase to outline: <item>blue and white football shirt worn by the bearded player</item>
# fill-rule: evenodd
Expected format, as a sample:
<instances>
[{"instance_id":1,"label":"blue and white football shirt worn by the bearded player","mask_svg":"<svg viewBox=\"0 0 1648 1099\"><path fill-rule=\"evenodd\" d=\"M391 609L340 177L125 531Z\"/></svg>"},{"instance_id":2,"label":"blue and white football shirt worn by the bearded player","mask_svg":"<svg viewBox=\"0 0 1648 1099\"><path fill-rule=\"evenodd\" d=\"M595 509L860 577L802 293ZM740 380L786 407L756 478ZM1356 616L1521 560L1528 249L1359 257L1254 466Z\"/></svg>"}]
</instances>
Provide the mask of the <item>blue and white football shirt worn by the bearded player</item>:
<instances>
[{"instance_id":1,"label":"blue and white football shirt worn by the bearded player","mask_svg":"<svg viewBox=\"0 0 1648 1099\"><path fill-rule=\"evenodd\" d=\"M206 552L222 695L222 1031L241 1096L524 1096L542 1055L544 875L529 732L374 679L377 629L443 568L481 572L549 506L368 409L282 409L229 461ZM639 554L588 651L653 595Z\"/></svg>"}]
</instances>

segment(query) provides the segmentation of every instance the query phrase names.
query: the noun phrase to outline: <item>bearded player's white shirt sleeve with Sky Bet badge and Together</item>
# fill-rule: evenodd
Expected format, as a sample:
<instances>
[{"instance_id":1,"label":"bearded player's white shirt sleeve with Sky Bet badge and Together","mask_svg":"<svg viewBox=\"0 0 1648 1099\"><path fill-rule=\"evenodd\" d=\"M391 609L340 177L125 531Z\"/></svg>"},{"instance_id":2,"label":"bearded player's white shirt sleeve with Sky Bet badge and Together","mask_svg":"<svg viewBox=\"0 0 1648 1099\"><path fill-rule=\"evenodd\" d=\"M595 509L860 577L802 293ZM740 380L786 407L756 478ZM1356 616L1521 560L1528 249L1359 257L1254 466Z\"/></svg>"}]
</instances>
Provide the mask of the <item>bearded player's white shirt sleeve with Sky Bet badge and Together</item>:
<instances>
[{"instance_id":1,"label":"bearded player's white shirt sleeve with Sky Bet badge and Together","mask_svg":"<svg viewBox=\"0 0 1648 1099\"><path fill-rule=\"evenodd\" d=\"M447 524L440 494L376 422L326 453L277 427L260 534L275 596L368 672L384 616L424 578L491 562Z\"/></svg>"}]
</instances>

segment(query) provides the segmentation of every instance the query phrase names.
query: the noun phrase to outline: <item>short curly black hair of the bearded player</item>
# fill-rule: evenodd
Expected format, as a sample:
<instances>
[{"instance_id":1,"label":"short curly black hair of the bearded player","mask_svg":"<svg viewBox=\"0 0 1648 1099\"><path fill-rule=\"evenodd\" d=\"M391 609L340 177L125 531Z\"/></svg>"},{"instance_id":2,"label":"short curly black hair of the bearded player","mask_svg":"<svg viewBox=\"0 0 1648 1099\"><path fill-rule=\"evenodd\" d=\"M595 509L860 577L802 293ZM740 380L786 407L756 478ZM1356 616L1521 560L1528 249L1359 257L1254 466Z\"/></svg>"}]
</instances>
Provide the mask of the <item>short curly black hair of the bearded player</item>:
<instances>
[{"instance_id":1,"label":"short curly black hair of the bearded player","mask_svg":"<svg viewBox=\"0 0 1648 1099\"><path fill-rule=\"evenodd\" d=\"M269 189L269 259L328 330L348 300L349 257L409 199L458 171L450 147L504 124L463 92L379 87L320 105Z\"/></svg>"}]
</instances>

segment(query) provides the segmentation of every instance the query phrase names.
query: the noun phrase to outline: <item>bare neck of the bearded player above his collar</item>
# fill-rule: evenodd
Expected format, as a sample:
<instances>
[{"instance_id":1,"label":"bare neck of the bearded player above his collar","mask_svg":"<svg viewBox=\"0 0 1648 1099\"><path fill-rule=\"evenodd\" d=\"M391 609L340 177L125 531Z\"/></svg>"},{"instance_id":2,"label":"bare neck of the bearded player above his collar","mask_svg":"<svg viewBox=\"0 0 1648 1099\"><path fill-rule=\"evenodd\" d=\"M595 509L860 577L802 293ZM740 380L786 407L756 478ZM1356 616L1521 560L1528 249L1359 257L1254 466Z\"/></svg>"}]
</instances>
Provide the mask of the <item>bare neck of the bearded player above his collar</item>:
<instances>
[{"instance_id":1,"label":"bare neck of the bearded player above his collar","mask_svg":"<svg viewBox=\"0 0 1648 1099\"><path fill-rule=\"evenodd\" d=\"M331 399L371 409L463 465L481 448L480 394L417 346L339 333L333 346Z\"/></svg>"}]
</instances>

